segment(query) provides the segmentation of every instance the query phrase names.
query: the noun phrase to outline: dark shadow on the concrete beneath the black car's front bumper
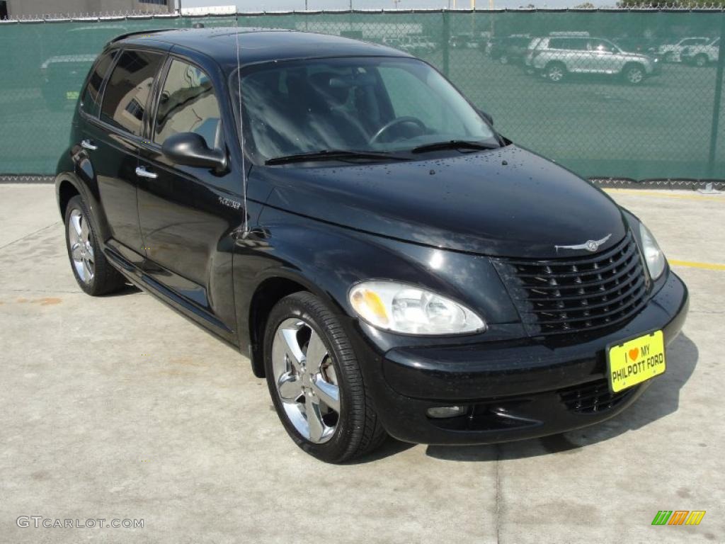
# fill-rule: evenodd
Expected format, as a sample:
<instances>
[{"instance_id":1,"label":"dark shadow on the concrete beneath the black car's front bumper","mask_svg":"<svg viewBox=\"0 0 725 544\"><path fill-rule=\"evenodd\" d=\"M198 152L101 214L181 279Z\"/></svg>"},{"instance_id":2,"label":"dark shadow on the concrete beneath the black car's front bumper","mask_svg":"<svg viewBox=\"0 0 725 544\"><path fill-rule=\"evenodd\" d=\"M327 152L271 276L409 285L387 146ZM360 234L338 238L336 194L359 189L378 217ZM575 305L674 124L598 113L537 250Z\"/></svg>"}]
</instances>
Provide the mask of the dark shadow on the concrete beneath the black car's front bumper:
<instances>
[{"instance_id":1,"label":"dark shadow on the concrete beneath the black car's front bumper","mask_svg":"<svg viewBox=\"0 0 725 544\"><path fill-rule=\"evenodd\" d=\"M636 431L679 409L679 392L695 371L699 352L686 335L681 334L667 348L668 368L655 379L633 405L618 416L600 424L563 434L494 445L437 446L429 445L426 455L446 461L497 461L576 453L576 450L597 442L610 440L629 431Z\"/></svg>"}]
</instances>

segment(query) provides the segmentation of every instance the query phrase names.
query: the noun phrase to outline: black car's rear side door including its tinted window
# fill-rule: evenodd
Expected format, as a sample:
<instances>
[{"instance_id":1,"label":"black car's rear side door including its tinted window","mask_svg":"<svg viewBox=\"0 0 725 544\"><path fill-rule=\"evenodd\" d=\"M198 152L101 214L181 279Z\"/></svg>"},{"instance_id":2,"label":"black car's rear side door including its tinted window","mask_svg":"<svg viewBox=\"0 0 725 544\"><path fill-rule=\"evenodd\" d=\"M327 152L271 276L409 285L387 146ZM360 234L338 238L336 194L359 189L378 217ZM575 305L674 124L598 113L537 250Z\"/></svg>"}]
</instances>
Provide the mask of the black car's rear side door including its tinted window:
<instances>
[{"instance_id":1,"label":"black car's rear side door including its tinted window","mask_svg":"<svg viewBox=\"0 0 725 544\"><path fill-rule=\"evenodd\" d=\"M136 207L138 146L154 78L164 58L162 53L146 50L117 55L99 118L89 120L81 142L93 165L112 238L109 244L136 263L144 255Z\"/></svg>"}]
</instances>

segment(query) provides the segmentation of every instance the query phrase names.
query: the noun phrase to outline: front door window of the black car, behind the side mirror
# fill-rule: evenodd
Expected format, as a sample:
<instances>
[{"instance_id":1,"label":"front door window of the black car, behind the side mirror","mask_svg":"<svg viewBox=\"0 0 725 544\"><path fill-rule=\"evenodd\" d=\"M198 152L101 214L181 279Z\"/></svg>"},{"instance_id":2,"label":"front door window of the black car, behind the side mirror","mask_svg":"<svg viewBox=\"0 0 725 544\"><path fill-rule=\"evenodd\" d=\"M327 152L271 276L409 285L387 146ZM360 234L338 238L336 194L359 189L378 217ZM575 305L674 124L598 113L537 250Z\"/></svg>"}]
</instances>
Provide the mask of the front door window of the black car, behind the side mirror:
<instances>
[{"instance_id":1,"label":"front door window of the black car, behind the side mirror","mask_svg":"<svg viewBox=\"0 0 725 544\"><path fill-rule=\"evenodd\" d=\"M154 141L163 144L180 132L199 134L214 149L219 144L221 114L209 76L196 66L174 60L159 99Z\"/></svg>"}]
</instances>

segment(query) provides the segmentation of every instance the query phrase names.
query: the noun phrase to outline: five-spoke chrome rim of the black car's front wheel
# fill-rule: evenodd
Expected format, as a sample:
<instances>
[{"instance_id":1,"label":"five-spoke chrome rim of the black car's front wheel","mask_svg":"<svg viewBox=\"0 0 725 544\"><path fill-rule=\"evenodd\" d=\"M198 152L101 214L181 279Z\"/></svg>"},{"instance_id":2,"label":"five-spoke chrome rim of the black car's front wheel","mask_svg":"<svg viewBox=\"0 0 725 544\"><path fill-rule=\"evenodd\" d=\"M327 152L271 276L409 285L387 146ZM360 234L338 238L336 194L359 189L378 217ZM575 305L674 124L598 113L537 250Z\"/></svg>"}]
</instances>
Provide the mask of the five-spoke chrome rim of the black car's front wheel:
<instances>
[{"instance_id":1,"label":"five-spoke chrome rim of the black car's front wheel","mask_svg":"<svg viewBox=\"0 0 725 544\"><path fill-rule=\"evenodd\" d=\"M277 327L272 368L284 411L302 437L331 439L340 417L340 388L333 360L309 323L289 318Z\"/></svg>"}]
</instances>

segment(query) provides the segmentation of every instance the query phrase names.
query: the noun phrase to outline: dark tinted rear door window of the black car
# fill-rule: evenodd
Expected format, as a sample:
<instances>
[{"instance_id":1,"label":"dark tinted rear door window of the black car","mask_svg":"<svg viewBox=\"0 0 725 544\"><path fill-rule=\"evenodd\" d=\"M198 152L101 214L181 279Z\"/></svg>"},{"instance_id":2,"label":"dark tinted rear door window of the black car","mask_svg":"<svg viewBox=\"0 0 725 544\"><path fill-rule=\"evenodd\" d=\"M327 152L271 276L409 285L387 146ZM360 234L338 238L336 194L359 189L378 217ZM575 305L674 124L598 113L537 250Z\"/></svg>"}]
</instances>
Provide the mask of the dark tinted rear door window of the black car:
<instances>
[{"instance_id":1,"label":"dark tinted rear door window of the black car","mask_svg":"<svg viewBox=\"0 0 725 544\"><path fill-rule=\"evenodd\" d=\"M144 110L164 56L150 51L123 51L109 78L101 120L141 136Z\"/></svg>"}]
</instances>

